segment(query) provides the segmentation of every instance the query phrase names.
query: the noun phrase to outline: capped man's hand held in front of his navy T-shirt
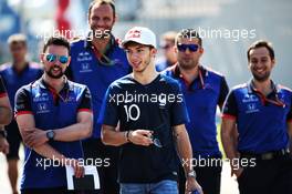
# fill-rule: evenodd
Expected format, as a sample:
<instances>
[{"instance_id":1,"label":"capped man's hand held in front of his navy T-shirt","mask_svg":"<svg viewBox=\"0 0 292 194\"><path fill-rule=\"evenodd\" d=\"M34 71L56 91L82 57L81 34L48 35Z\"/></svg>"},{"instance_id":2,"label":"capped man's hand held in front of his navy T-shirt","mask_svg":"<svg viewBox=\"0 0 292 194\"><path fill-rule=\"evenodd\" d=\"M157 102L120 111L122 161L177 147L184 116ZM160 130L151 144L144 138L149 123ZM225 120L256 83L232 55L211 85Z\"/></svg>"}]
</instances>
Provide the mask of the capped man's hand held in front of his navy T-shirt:
<instances>
[{"instance_id":1,"label":"capped man's hand held in front of his navy T-shirt","mask_svg":"<svg viewBox=\"0 0 292 194\"><path fill-rule=\"evenodd\" d=\"M152 134L149 130L135 130L129 132L128 140L136 145L149 146L153 144Z\"/></svg>"}]
</instances>

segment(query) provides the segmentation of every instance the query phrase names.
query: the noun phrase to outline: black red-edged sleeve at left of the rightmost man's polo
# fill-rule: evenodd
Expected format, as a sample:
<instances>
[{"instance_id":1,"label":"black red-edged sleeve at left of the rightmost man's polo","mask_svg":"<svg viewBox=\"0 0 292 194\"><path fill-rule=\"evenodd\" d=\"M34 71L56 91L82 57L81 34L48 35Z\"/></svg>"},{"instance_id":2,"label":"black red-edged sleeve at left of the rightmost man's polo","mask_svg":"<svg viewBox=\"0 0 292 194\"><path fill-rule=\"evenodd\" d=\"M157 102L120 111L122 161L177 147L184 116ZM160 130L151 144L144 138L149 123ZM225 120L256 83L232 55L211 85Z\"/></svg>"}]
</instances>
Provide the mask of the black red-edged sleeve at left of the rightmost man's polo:
<instances>
[{"instance_id":1,"label":"black red-edged sleeve at left of the rightmost man's polo","mask_svg":"<svg viewBox=\"0 0 292 194\"><path fill-rule=\"evenodd\" d=\"M222 113L222 119L237 119L238 116L238 105L237 105L237 100L234 92L231 91L225 102L223 105L223 113Z\"/></svg>"}]
</instances>

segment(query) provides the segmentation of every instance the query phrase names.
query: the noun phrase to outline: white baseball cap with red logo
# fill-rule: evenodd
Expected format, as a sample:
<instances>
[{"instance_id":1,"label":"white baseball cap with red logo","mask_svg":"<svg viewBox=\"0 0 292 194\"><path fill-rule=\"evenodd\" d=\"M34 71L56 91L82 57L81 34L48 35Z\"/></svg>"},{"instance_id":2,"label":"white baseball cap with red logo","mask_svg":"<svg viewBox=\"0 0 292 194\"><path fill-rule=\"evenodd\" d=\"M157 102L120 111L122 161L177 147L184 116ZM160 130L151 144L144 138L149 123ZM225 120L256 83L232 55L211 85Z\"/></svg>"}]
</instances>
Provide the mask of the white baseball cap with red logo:
<instances>
[{"instance_id":1,"label":"white baseball cap with red logo","mask_svg":"<svg viewBox=\"0 0 292 194\"><path fill-rule=\"evenodd\" d=\"M145 27L134 27L129 29L125 34L125 39L122 41L122 47L131 41L156 48L156 35L152 30Z\"/></svg>"}]
</instances>

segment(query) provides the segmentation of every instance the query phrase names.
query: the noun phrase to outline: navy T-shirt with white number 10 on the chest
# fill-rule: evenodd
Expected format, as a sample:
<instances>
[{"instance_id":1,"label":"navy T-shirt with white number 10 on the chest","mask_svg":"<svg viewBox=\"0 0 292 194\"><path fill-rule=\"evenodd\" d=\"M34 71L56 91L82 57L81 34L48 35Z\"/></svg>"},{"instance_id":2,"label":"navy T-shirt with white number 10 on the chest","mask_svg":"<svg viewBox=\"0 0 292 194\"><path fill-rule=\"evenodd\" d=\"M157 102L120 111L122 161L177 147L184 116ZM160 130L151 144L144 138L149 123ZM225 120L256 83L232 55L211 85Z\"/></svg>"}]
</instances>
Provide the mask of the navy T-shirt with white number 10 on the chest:
<instances>
[{"instance_id":1,"label":"navy T-shirt with white number 10 on the chest","mask_svg":"<svg viewBox=\"0 0 292 194\"><path fill-rule=\"evenodd\" d=\"M140 84L126 75L107 90L100 122L121 131L152 130L163 147L126 143L121 146L118 181L121 183L156 183L176 180L177 155L171 126L188 122L184 96L178 83L158 75L149 84Z\"/></svg>"}]
</instances>

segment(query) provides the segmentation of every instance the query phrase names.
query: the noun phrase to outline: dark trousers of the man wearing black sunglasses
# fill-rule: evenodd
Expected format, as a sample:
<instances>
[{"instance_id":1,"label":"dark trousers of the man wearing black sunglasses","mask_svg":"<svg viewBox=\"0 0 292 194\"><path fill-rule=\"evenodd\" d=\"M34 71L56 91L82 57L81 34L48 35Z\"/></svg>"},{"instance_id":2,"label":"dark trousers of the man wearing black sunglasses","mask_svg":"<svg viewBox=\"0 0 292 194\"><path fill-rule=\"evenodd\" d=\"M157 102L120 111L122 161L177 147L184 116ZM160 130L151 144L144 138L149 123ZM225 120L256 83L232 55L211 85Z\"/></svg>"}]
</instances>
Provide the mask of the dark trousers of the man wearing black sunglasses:
<instances>
[{"instance_id":1,"label":"dark trousers of the man wearing black sunglasses","mask_svg":"<svg viewBox=\"0 0 292 194\"><path fill-rule=\"evenodd\" d=\"M210 160L211 157L209 157ZM216 160L219 160L215 157ZM202 187L204 194L220 194L222 166L195 166L197 182ZM179 194L185 194L186 178L182 166L179 167Z\"/></svg>"}]
</instances>

